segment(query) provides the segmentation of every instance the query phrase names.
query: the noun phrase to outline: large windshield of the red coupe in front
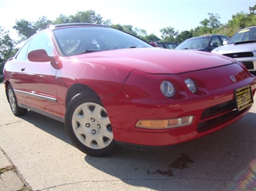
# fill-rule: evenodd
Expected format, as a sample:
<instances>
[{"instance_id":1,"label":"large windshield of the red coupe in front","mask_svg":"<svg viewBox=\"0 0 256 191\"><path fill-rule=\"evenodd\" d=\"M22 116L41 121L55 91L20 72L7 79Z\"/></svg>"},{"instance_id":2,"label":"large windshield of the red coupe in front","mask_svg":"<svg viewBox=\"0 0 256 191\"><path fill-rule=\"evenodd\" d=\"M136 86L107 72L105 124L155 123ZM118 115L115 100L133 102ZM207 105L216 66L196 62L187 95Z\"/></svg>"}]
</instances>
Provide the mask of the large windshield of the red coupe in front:
<instances>
[{"instance_id":1,"label":"large windshield of the red coupe in front","mask_svg":"<svg viewBox=\"0 0 256 191\"><path fill-rule=\"evenodd\" d=\"M151 47L141 39L107 27L72 27L53 31L63 55L77 55L104 50Z\"/></svg>"}]
</instances>

